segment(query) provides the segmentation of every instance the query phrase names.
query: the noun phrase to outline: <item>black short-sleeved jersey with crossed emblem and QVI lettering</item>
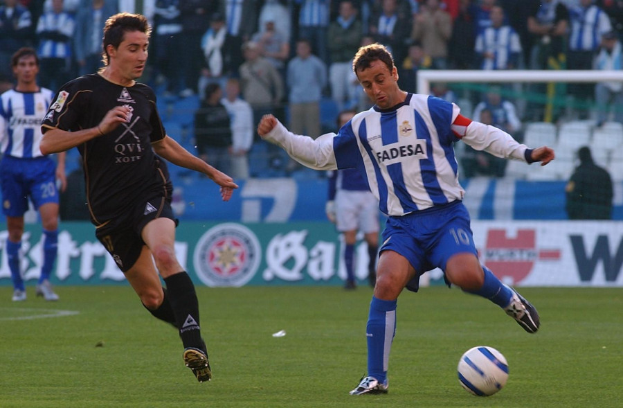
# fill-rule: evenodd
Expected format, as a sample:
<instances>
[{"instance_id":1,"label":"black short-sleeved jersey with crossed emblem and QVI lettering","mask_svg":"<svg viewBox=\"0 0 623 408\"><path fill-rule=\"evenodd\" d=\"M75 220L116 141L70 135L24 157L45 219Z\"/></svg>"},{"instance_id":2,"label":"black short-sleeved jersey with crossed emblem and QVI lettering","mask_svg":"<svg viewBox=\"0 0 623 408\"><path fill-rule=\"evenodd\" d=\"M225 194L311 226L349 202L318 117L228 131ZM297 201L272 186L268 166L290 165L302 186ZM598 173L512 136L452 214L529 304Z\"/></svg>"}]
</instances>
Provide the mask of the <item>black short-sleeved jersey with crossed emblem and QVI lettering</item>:
<instances>
[{"instance_id":1,"label":"black short-sleeved jersey with crossed emblem and QVI lettering","mask_svg":"<svg viewBox=\"0 0 623 408\"><path fill-rule=\"evenodd\" d=\"M172 186L165 161L151 145L166 133L150 87L140 83L123 87L91 74L66 83L53 100L42 132L96 127L116 106L131 111L129 121L113 132L78 145L94 224L126 214L138 198L162 194L170 199Z\"/></svg>"}]
</instances>

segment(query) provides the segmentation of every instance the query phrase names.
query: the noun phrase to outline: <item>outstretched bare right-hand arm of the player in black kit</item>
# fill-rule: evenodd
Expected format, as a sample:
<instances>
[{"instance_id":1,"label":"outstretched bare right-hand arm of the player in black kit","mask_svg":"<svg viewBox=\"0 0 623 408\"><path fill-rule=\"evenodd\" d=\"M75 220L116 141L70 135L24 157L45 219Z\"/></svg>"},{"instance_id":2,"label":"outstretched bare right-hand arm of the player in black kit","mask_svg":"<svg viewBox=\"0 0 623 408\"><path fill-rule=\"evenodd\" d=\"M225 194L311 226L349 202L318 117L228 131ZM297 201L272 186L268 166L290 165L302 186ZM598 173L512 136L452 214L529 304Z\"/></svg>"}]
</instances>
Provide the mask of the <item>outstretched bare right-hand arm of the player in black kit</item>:
<instances>
[{"instance_id":1,"label":"outstretched bare right-hand arm of the player in black kit","mask_svg":"<svg viewBox=\"0 0 623 408\"><path fill-rule=\"evenodd\" d=\"M166 136L161 141L152 143L152 147L154 148L154 152L160 157L163 157L163 159L177 166L202 172L210 177L212 181L221 186L221 197L223 201L228 201L228 199L231 198L233 189L238 188L238 185L234 183L231 177L188 152L188 150L181 147L177 141L174 141L169 136Z\"/></svg>"}]
</instances>

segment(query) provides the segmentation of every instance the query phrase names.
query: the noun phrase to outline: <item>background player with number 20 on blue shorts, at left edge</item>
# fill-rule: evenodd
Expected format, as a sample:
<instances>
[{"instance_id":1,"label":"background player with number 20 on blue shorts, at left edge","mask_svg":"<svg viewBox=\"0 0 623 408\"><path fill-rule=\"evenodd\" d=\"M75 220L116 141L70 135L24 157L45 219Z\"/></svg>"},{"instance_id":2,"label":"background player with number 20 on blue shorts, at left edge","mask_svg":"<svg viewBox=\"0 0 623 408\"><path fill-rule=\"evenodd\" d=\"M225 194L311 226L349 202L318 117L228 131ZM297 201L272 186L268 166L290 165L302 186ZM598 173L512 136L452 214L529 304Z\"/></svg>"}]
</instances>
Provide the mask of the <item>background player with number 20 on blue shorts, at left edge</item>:
<instances>
[{"instance_id":1,"label":"background player with number 20 on blue shorts, at left edge","mask_svg":"<svg viewBox=\"0 0 623 408\"><path fill-rule=\"evenodd\" d=\"M0 184L2 211L6 215L8 239L6 251L13 282L13 301L25 301L26 289L21 277L19 249L24 233L24 213L28 198L39 210L43 227L43 265L37 283L37 296L46 301L58 300L50 285L50 274L57 256L58 190L66 188L65 153L57 163L39 151L41 121L52 100L52 91L37 85L39 57L33 48L19 48L12 55L11 66L17 79L15 88L0 96Z\"/></svg>"}]
</instances>

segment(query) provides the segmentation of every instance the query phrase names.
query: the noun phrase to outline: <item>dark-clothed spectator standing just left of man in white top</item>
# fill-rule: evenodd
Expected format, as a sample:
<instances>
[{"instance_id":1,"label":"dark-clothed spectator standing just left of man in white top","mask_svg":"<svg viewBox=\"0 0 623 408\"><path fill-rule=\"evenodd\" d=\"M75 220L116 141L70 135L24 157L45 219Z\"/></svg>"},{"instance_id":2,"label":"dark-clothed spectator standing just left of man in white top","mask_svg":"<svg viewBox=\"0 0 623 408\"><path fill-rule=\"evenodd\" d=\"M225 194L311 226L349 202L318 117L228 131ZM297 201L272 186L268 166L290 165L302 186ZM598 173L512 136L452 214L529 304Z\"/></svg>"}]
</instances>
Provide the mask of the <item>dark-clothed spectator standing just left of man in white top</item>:
<instances>
[{"instance_id":1,"label":"dark-clothed spectator standing just left of man in white top","mask_svg":"<svg viewBox=\"0 0 623 408\"><path fill-rule=\"evenodd\" d=\"M199 157L210 166L229 174L231 168L231 121L221 103L223 91L213 82L195 112L195 144Z\"/></svg>"}]
</instances>

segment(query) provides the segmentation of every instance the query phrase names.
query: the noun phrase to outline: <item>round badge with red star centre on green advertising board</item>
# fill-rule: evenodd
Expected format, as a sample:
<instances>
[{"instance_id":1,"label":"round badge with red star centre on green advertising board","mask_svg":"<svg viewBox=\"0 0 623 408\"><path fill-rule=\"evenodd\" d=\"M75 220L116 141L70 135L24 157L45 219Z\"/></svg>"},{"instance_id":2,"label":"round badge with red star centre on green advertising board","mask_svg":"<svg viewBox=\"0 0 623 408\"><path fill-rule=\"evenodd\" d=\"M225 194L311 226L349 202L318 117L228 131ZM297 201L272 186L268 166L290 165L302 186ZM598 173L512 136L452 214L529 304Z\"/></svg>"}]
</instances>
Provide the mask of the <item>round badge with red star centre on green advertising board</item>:
<instances>
[{"instance_id":1,"label":"round badge with red star centre on green advertising board","mask_svg":"<svg viewBox=\"0 0 623 408\"><path fill-rule=\"evenodd\" d=\"M242 286L258 271L262 251L250 229L234 223L206 231L195 247L193 265L208 286Z\"/></svg>"}]
</instances>

